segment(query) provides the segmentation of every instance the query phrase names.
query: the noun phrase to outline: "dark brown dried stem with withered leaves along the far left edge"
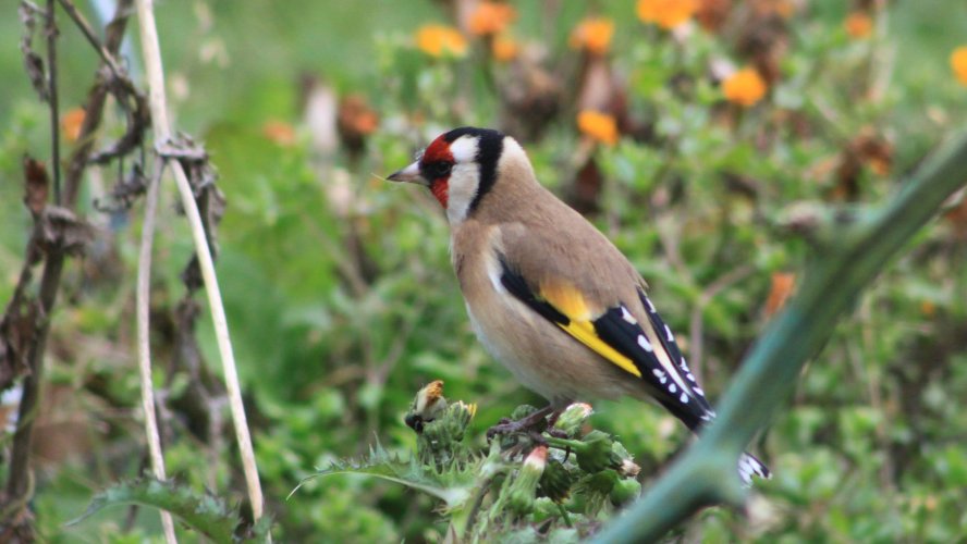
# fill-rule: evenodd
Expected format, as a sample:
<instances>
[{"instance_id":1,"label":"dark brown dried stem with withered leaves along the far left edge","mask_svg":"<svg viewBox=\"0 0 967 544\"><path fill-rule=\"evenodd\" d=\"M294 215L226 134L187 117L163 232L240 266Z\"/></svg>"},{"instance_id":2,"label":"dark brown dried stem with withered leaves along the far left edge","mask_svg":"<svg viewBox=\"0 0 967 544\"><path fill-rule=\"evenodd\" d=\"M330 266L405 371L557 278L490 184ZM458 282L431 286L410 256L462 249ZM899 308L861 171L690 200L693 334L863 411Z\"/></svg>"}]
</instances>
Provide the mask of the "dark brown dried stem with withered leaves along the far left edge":
<instances>
[{"instance_id":1,"label":"dark brown dried stem with withered leaves along the far left edge","mask_svg":"<svg viewBox=\"0 0 967 544\"><path fill-rule=\"evenodd\" d=\"M37 84L37 74L42 74L42 62L29 49L33 30L33 14L45 13L48 39L48 75L47 101L50 104L51 123L51 162L54 172L54 203L49 203L50 181L42 164L27 158L24 161L25 203L34 217L34 233L27 244L24 265L20 281L14 289L7 310L0 321L0 387L10 385L17 374L24 373L23 394L17 413L17 429L13 436L10 458L10 472L0 508L0 537L2 540L32 541L30 515L27 505L33 496L33 472L30 470L30 449L33 443L34 416L40 398L40 383L44 380L44 353L47 336L50 332L50 314L57 301L60 279L64 261L70 255L81 252L89 239L90 231L86 223L76 218L73 208L76 203L77 188L84 168L87 164L94 135L100 124L101 110L106 94L95 90L88 100L87 116L81 132L82 144L71 157L66 174L65 193L60 191L60 135L57 104L56 39L57 26L53 13L53 0L48 0L48 10L42 12L37 7L22 2L21 17L26 27L26 36L22 41L26 62L27 76ZM131 2L121 0L118 4L115 23L109 27L108 47L114 53L120 48L124 33L124 17L130 11ZM39 72L38 72L39 70ZM41 94L41 99L45 99ZM33 280L32 268L44 261L39 294L36 300L27 295Z\"/></svg>"}]
</instances>

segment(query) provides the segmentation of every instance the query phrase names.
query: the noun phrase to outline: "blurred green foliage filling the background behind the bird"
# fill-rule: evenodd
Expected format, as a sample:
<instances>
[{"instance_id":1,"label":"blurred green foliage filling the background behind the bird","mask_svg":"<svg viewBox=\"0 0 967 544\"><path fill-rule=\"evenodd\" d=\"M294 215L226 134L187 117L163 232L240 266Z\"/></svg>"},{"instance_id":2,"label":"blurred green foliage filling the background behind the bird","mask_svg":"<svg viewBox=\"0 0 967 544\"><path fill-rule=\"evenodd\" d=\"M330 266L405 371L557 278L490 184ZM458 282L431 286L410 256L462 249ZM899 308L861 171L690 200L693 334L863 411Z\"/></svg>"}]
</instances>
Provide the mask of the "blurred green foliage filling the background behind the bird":
<instances>
[{"instance_id":1,"label":"blurred green foliage filling the background behind the bird","mask_svg":"<svg viewBox=\"0 0 967 544\"><path fill-rule=\"evenodd\" d=\"M548 22L541 3L514 4L515 36L542 44L564 66L556 74L562 85L579 86L582 53L567 41L591 8L562 2ZM800 270L807 255L803 240L773 227L774 218L801 201L879 201L967 121L967 88L947 63L967 42L967 13L946 0L892 2L877 14L871 36L852 39L845 2L809 2L787 21L781 78L760 103L740 109L723 101L709 76L718 61L748 62L730 35L695 27L675 38L644 25L627 2L596 8L616 23L609 59L628 110L651 134L592 146L604 183L600 211L589 219L648 280L714 399L768 320L774 275ZM0 17L0 74L9 82L0 88L3 301L29 232L20 158L45 157L49 147L46 109L22 73L20 29L13 7L8 11ZM541 404L476 343L436 202L377 178L443 129L498 125L498 90L519 79L489 62L478 39L461 59L414 48L419 25L450 21L429 1L162 2L157 11L176 124L204 140L229 200L218 271L277 539L441 539L446 524L433 500L396 485L327 478L285 497L317 468L368 452L377 440L390 454L416 450L403 413L431 380L445 381L448 396L478 405L469 436L481 452L483 429L524 401ZM66 23L62 36L66 110L81 103L96 58ZM130 64L137 72L136 54ZM364 152L340 147L320 157L303 116L313 90L307 74L340 95L365 96L378 112L380 127ZM564 108L542 138L526 143L538 177L562 195L575 180L575 149L586 143L575 113L573 104ZM289 127L293 137L270 126ZM870 141L886 159L855 151ZM865 159L846 176L850 153ZM69 423L85 437L71 455L41 459L37 526L54 542L74 535L63 522L94 493L144 466L133 342L139 209L95 211L90 199L115 173L99 175L82 201L103 227L103 246L71 262L52 317L48 391L70 395L51 397L50 424L73 412ZM193 380L171 366L163 330L183 296L178 274L192 251L173 202L172 193L162 199L152 293L156 385L168 398L189 391ZM963 537L965 234L963 218L938 221L860 297L758 444L775 478L757 485L748 518L708 509L682 534L710 542ZM203 359L220 375L201 313ZM620 437L645 486L688 440L652 406L612 401L596 410L592 425ZM228 418L221 408L213 413ZM168 417L169 473L241 500L230 429L205 436L192 430L187 412L172 407ZM53 436L60 428L46 429ZM70 531L112 542L160 534L157 517L145 512L124 534L132 524L125 516L99 514Z\"/></svg>"}]
</instances>

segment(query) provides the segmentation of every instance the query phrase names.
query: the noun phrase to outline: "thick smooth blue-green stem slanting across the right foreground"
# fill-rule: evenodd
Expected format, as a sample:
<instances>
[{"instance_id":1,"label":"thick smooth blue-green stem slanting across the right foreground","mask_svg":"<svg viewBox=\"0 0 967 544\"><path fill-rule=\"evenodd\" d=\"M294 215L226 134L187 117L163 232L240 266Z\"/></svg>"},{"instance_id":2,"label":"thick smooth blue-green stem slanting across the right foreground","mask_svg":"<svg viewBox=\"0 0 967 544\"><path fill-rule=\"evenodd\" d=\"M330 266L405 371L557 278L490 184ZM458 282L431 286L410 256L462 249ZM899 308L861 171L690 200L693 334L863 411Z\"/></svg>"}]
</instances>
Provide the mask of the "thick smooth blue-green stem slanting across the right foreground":
<instances>
[{"instance_id":1,"label":"thick smooth blue-green stem slanting across the right foreground","mask_svg":"<svg viewBox=\"0 0 967 544\"><path fill-rule=\"evenodd\" d=\"M742 504L745 491L735 467L743 449L786 401L803 366L822 349L860 290L965 184L967 134L962 134L930 157L884 207L821 225L821 255L807 269L799 294L743 361L718 419L593 542L656 541L703 506Z\"/></svg>"}]
</instances>

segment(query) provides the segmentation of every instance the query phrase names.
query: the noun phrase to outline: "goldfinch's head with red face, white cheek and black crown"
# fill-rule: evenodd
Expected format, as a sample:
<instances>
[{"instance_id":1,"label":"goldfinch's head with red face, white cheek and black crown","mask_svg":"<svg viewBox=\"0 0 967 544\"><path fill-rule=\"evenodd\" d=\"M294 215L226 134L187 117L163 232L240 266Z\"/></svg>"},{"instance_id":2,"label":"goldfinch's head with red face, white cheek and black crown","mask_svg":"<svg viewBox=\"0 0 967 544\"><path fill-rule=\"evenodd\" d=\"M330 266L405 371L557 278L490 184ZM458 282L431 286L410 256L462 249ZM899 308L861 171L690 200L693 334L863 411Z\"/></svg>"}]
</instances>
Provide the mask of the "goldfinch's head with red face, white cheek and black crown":
<instances>
[{"instance_id":1,"label":"goldfinch's head with red face, white cheek and black crown","mask_svg":"<svg viewBox=\"0 0 967 544\"><path fill-rule=\"evenodd\" d=\"M479 207L507 160L527 161L513 138L465 126L438 136L412 164L388 180L428 187L446 210L450 224L456 225Z\"/></svg>"}]
</instances>

